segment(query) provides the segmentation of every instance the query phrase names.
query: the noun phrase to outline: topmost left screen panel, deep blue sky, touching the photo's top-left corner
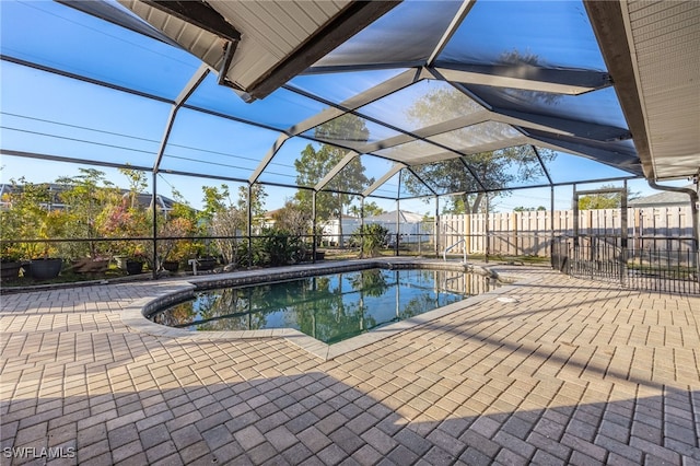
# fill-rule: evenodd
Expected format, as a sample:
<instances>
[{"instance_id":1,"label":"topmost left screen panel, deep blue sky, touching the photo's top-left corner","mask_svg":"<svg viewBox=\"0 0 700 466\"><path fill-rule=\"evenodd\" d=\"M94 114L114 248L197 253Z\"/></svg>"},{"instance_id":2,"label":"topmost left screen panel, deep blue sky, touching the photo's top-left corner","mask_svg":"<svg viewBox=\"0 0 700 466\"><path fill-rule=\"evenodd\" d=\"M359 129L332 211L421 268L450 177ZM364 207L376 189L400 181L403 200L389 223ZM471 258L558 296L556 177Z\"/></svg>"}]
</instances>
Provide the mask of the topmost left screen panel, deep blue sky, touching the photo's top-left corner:
<instances>
[{"instance_id":1,"label":"topmost left screen panel, deep blue sky, touching the photo's top-left corner","mask_svg":"<svg viewBox=\"0 0 700 466\"><path fill-rule=\"evenodd\" d=\"M199 68L186 51L57 2L3 1L2 53L174 100Z\"/></svg>"}]
</instances>

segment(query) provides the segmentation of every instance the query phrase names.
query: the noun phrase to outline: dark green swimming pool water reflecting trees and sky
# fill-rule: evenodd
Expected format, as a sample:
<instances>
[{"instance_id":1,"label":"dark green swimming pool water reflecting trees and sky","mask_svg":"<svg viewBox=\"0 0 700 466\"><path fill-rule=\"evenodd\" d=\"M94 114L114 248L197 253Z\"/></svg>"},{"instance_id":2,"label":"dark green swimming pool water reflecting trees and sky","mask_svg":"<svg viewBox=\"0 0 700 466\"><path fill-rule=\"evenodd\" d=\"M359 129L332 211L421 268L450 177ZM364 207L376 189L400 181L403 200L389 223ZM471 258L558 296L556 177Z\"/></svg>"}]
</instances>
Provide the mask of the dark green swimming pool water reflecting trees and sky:
<instances>
[{"instance_id":1,"label":"dark green swimming pool water reflecting trees and sky","mask_svg":"<svg viewBox=\"0 0 700 466\"><path fill-rule=\"evenodd\" d=\"M198 292L149 316L190 330L295 328L335 343L488 291L493 280L445 270L358 270Z\"/></svg>"}]
</instances>

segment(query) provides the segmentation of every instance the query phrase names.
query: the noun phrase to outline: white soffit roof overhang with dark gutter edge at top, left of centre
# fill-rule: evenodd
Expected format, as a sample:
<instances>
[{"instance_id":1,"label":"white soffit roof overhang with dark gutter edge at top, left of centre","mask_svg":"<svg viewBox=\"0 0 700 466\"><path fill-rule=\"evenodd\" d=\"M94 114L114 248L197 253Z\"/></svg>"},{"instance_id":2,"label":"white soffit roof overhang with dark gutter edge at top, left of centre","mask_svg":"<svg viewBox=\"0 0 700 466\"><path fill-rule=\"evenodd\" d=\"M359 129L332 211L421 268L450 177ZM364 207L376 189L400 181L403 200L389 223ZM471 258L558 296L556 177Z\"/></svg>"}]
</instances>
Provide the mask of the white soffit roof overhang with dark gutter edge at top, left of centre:
<instances>
[{"instance_id":1,"label":"white soffit roof overhang with dark gutter edge at top, left of centre","mask_svg":"<svg viewBox=\"0 0 700 466\"><path fill-rule=\"evenodd\" d=\"M262 98L394 8L393 1L119 0L220 74Z\"/></svg>"}]
</instances>

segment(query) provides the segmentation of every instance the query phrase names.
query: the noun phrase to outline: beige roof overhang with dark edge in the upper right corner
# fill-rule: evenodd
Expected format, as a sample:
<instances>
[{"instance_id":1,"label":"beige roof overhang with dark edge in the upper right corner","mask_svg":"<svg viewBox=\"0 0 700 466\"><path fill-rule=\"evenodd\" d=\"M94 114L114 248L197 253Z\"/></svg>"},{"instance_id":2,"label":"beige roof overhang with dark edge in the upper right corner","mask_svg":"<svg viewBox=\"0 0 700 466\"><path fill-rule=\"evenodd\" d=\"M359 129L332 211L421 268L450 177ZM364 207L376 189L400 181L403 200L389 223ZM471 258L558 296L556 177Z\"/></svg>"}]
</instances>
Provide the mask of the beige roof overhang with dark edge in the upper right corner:
<instances>
[{"instance_id":1,"label":"beige roof overhang with dark edge in the upper right corner","mask_svg":"<svg viewBox=\"0 0 700 466\"><path fill-rule=\"evenodd\" d=\"M698 175L700 2L585 4L644 176L673 179Z\"/></svg>"}]
</instances>

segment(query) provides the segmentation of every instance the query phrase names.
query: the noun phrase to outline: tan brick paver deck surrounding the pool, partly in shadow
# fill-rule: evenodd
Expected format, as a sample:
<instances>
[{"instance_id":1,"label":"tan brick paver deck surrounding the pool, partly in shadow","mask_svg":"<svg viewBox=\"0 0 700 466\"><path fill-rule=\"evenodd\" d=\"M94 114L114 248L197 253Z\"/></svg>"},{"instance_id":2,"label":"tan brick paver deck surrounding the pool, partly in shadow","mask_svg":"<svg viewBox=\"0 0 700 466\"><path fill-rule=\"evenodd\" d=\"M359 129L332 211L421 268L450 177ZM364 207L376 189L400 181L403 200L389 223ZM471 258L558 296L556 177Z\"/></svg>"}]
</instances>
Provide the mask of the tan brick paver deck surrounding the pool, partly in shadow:
<instances>
[{"instance_id":1,"label":"tan brick paver deck surrounding the pool, partly in shadow","mask_svg":"<svg viewBox=\"0 0 700 466\"><path fill-rule=\"evenodd\" d=\"M3 295L0 464L700 465L699 296L494 269L329 360L125 317L178 281Z\"/></svg>"}]
</instances>

